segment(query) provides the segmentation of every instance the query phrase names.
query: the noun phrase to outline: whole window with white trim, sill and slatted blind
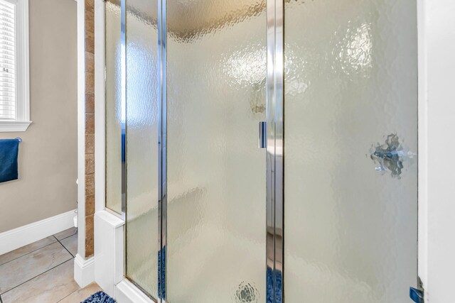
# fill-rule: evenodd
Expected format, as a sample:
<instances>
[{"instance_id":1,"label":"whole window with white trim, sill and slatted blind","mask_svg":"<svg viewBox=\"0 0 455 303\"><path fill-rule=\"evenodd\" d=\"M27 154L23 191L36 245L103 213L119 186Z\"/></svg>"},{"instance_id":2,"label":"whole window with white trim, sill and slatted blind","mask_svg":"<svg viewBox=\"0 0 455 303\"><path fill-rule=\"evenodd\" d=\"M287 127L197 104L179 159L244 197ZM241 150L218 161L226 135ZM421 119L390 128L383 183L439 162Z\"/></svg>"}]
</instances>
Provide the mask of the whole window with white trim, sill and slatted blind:
<instances>
[{"instance_id":1,"label":"whole window with white trim, sill and slatted blind","mask_svg":"<svg viewBox=\"0 0 455 303\"><path fill-rule=\"evenodd\" d=\"M28 0L0 0L0 132L26 131L28 90Z\"/></svg>"}]
</instances>

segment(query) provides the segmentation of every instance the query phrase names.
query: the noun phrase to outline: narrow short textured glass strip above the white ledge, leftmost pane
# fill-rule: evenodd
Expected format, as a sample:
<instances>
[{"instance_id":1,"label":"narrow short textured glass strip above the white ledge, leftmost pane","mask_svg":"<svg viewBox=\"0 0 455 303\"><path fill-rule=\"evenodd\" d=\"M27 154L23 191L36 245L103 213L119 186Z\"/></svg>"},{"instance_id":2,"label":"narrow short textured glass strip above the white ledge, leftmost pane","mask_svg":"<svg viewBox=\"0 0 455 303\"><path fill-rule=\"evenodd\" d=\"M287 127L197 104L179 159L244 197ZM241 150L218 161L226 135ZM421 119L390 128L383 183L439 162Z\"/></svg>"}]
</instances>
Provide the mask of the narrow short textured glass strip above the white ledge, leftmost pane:
<instances>
[{"instance_id":1,"label":"narrow short textured glass strip above the white ledge, leftmost pane","mask_svg":"<svg viewBox=\"0 0 455 303\"><path fill-rule=\"evenodd\" d=\"M122 43L120 6L105 1L106 207L122 213Z\"/></svg>"}]
</instances>

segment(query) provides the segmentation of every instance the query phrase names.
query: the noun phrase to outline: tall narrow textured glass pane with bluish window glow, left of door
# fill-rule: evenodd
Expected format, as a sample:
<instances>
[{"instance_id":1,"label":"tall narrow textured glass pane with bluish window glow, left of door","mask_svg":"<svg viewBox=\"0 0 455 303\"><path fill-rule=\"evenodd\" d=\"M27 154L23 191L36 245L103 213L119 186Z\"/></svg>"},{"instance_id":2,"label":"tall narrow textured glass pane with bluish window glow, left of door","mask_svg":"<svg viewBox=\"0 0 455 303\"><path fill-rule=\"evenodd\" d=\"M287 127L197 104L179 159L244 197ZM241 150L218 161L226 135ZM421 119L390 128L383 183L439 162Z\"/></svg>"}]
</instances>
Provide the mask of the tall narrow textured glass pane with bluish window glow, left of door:
<instances>
[{"instance_id":1,"label":"tall narrow textured glass pane with bluish window glow, left of door","mask_svg":"<svg viewBox=\"0 0 455 303\"><path fill-rule=\"evenodd\" d=\"M158 30L157 0L128 0L127 277L157 297Z\"/></svg>"}]
</instances>

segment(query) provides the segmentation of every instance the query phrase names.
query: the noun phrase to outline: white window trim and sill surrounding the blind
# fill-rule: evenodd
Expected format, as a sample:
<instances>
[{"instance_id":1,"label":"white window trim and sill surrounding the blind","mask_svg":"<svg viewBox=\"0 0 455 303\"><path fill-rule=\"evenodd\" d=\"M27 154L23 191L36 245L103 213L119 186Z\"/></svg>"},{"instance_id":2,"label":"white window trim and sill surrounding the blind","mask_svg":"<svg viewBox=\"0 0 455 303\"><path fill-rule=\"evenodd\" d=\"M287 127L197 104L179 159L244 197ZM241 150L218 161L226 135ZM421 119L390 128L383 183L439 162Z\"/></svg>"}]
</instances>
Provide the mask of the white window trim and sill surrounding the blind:
<instances>
[{"instance_id":1,"label":"white window trim and sill surrounding the blind","mask_svg":"<svg viewBox=\"0 0 455 303\"><path fill-rule=\"evenodd\" d=\"M26 131L30 126L28 0L4 0L16 6L16 119L0 120L0 132Z\"/></svg>"}]
</instances>

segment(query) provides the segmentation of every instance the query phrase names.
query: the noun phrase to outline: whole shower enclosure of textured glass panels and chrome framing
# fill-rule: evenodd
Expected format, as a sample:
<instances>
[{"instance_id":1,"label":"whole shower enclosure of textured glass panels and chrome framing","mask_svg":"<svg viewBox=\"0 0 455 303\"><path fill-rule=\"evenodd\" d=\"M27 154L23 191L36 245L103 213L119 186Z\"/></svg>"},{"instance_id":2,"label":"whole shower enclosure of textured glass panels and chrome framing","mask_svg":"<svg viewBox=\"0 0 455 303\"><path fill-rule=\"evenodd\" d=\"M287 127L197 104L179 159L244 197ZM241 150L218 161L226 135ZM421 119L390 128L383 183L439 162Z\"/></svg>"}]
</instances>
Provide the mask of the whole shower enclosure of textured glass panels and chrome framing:
<instances>
[{"instance_id":1,"label":"whole shower enclosure of textured glass panels and chrome framing","mask_svg":"<svg viewBox=\"0 0 455 303\"><path fill-rule=\"evenodd\" d=\"M106 0L106 207L156 302L410 302L414 0Z\"/></svg>"}]
</instances>

